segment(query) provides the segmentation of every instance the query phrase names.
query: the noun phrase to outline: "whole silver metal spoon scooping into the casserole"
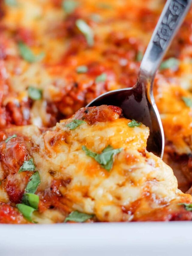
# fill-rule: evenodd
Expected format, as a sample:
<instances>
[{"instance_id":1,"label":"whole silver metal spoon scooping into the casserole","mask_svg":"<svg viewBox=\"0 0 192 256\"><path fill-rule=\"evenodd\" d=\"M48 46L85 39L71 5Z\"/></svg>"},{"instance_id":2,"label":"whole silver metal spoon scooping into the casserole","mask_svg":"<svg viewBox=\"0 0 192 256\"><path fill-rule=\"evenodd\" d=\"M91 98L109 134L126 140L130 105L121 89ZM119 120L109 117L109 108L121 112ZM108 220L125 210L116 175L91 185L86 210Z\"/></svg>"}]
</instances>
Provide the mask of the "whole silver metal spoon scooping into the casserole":
<instances>
[{"instance_id":1,"label":"whole silver metal spoon scooping into the casserole","mask_svg":"<svg viewBox=\"0 0 192 256\"><path fill-rule=\"evenodd\" d=\"M161 60L182 24L192 0L167 0L143 56L137 83L131 88L106 92L87 107L115 105L128 119L142 122L150 129L147 150L163 157L164 131L153 96L153 81ZM170 106L171 107L171 106Z\"/></svg>"}]
</instances>

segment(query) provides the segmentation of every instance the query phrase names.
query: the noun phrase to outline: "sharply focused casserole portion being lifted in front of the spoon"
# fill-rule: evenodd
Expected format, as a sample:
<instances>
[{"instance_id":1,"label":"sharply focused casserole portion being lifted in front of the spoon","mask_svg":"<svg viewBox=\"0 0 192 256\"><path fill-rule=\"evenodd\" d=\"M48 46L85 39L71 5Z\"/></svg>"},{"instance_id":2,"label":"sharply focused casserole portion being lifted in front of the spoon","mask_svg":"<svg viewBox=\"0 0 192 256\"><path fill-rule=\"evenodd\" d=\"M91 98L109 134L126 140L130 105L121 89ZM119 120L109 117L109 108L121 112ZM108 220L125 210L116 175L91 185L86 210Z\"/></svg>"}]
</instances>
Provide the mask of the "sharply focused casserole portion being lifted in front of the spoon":
<instances>
[{"instance_id":1,"label":"sharply focused casserole portion being lifted in front of the spoon","mask_svg":"<svg viewBox=\"0 0 192 256\"><path fill-rule=\"evenodd\" d=\"M89 221L191 220L181 204L192 197L177 188L172 169L146 151L149 128L120 114L113 106L82 108L47 131L6 129L0 221L76 221L74 212Z\"/></svg>"}]
</instances>

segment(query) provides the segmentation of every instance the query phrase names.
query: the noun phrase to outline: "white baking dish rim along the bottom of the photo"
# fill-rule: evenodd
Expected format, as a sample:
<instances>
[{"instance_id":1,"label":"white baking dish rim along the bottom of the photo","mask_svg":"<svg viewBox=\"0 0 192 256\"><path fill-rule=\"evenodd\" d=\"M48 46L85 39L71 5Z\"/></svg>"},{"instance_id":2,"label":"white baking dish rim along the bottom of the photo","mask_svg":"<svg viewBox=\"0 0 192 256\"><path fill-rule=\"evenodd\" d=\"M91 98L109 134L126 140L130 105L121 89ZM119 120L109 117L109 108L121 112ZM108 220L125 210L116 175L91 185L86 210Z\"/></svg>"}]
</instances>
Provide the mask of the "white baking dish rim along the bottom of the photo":
<instances>
[{"instance_id":1,"label":"white baking dish rim along the bottom of the photo","mask_svg":"<svg viewBox=\"0 0 192 256\"><path fill-rule=\"evenodd\" d=\"M192 222L1 224L1 256L191 255Z\"/></svg>"}]
</instances>

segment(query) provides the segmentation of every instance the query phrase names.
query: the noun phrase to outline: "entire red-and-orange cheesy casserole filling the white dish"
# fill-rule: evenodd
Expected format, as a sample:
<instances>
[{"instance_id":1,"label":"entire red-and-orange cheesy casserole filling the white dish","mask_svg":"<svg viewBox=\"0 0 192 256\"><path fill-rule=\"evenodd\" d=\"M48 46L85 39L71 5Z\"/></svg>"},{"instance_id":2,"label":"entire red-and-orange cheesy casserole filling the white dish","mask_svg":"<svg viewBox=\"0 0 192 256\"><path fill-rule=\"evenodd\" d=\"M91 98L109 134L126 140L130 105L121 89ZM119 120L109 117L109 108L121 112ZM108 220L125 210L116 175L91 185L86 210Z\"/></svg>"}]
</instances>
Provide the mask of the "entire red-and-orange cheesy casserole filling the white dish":
<instances>
[{"instance_id":1,"label":"entire red-and-orange cheesy casserole filling the white dish","mask_svg":"<svg viewBox=\"0 0 192 256\"><path fill-rule=\"evenodd\" d=\"M136 83L164 4L0 0L0 223L192 219L192 11L155 77L164 162L145 125L84 108Z\"/></svg>"}]
</instances>

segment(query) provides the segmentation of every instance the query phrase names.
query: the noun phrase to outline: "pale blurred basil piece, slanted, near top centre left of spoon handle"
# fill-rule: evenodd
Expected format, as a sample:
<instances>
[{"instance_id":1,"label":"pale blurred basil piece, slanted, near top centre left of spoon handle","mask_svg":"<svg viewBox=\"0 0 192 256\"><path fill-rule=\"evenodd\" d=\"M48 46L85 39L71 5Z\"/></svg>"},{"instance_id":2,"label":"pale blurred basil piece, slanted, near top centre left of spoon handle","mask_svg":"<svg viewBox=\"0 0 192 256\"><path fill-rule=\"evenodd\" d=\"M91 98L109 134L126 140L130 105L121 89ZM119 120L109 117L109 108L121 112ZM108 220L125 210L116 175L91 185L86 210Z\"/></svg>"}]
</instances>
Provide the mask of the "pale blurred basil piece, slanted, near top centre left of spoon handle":
<instances>
[{"instance_id":1,"label":"pale blurred basil piece, slanted, near top centre left of spoon handle","mask_svg":"<svg viewBox=\"0 0 192 256\"><path fill-rule=\"evenodd\" d=\"M87 44L89 46L93 46L94 44L94 34L92 29L88 26L88 24L81 19L76 20L76 26L83 33L87 40Z\"/></svg>"}]
</instances>

